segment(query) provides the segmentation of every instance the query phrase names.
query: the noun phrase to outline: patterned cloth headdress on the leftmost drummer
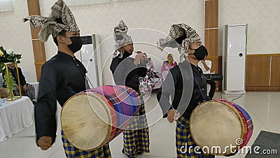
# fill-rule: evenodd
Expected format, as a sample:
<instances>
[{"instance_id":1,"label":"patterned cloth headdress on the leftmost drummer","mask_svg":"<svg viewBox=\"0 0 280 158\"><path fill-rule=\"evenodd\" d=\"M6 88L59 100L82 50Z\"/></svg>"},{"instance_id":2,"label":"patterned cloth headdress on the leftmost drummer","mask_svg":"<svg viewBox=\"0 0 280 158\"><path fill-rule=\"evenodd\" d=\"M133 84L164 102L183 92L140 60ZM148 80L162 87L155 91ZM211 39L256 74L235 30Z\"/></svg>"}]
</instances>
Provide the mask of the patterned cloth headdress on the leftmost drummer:
<instances>
[{"instance_id":1,"label":"patterned cloth headdress on the leftmost drummer","mask_svg":"<svg viewBox=\"0 0 280 158\"><path fill-rule=\"evenodd\" d=\"M48 41L50 34L55 38L61 31L80 31L71 10L62 0L58 0L52 6L49 17L35 15L23 18L23 22L27 21L30 22L31 27L42 26L38 34L42 42Z\"/></svg>"}]
</instances>

